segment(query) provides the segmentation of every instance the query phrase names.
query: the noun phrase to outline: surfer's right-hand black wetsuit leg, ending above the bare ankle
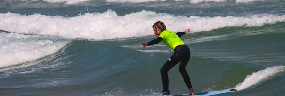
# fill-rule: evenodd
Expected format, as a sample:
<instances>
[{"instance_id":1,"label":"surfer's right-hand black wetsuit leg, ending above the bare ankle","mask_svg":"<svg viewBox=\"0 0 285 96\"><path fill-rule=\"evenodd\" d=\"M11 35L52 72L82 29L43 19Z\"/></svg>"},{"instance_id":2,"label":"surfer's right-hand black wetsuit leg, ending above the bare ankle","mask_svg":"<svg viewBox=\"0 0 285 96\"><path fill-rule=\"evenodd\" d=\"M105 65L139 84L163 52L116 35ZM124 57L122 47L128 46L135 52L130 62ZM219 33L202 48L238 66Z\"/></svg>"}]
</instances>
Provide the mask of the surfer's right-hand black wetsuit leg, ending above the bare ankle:
<instances>
[{"instance_id":1,"label":"surfer's right-hand black wetsuit leg, ending above the bare ankle","mask_svg":"<svg viewBox=\"0 0 285 96\"><path fill-rule=\"evenodd\" d=\"M190 59L191 52L187 46L183 46L183 52L184 52L184 56L182 56L182 60L181 60L180 65L179 65L179 71L180 71L180 73L184 79L184 82L186 83L186 85L189 89L189 88L192 88L192 84L190 81L190 77L186 71L186 66L187 66L188 61Z\"/></svg>"}]
</instances>

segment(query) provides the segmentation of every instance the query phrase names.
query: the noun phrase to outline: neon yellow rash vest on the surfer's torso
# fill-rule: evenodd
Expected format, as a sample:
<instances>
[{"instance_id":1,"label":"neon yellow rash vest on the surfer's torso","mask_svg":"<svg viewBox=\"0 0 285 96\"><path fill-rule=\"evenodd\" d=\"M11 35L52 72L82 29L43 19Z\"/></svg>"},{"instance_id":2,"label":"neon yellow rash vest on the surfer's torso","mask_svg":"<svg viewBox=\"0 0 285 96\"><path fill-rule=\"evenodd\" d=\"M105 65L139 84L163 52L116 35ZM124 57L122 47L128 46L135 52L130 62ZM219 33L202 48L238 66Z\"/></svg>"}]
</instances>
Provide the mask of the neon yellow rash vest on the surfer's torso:
<instances>
[{"instance_id":1,"label":"neon yellow rash vest on the surfer's torso","mask_svg":"<svg viewBox=\"0 0 285 96\"><path fill-rule=\"evenodd\" d=\"M159 37L163 38L162 42L169 46L172 50L178 45L185 45L185 43L178 37L175 32L164 30Z\"/></svg>"}]
</instances>

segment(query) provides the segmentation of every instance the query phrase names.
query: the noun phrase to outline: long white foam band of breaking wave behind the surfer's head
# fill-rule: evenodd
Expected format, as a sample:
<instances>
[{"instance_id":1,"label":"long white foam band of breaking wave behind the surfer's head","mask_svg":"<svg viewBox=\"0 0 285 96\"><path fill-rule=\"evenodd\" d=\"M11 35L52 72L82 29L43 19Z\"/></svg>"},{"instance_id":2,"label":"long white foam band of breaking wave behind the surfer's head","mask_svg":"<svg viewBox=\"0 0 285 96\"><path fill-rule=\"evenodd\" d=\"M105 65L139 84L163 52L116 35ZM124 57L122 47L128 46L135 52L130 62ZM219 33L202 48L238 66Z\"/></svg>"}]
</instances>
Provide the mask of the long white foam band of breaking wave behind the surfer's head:
<instances>
[{"instance_id":1,"label":"long white foam band of breaking wave behind the surfer's head","mask_svg":"<svg viewBox=\"0 0 285 96\"><path fill-rule=\"evenodd\" d=\"M210 31L228 26L262 26L285 21L285 16L252 17L199 17L173 16L142 10L141 12L118 16L115 11L87 13L76 17L45 16L34 14L23 16L15 13L0 14L0 29L38 35L52 35L65 38L116 39L154 35L152 25L162 21L167 29L183 32Z\"/></svg>"}]
</instances>

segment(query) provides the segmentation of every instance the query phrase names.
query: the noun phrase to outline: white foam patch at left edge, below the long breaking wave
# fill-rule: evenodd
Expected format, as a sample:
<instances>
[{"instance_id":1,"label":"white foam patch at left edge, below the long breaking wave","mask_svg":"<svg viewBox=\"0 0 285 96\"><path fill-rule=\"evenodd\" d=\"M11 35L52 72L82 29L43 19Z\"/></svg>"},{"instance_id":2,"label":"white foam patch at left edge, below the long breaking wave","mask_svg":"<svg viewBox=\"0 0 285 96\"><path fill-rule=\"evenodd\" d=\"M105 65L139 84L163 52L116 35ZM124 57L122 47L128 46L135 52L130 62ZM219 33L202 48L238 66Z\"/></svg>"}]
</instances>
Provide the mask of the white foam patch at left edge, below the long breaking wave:
<instances>
[{"instance_id":1,"label":"white foam patch at left edge, below the long breaking wave","mask_svg":"<svg viewBox=\"0 0 285 96\"><path fill-rule=\"evenodd\" d=\"M67 41L37 40L36 36L16 33L0 34L0 68L34 61L63 48Z\"/></svg>"}]
</instances>

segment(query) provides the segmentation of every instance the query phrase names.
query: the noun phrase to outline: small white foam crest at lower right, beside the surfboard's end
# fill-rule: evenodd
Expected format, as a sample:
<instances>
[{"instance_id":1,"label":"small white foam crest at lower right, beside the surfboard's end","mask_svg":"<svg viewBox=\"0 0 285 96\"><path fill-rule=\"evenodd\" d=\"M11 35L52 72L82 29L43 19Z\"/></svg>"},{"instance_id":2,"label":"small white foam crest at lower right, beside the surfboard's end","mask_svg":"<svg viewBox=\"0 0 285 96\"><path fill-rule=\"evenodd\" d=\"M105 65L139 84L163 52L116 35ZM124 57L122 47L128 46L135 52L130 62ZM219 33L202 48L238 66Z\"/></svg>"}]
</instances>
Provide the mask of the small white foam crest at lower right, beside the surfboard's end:
<instances>
[{"instance_id":1,"label":"small white foam crest at lower right, beside the surfboard's end","mask_svg":"<svg viewBox=\"0 0 285 96\"><path fill-rule=\"evenodd\" d=\"M285 71L285 66L275 66L275 67L268 67L264 70L260 70L257 72L253 72L251 75L248 75L242 83L236 85L235 89L242 90L250 86L259 84L265 81L266 79L275 76L275 74L284 71Z\"/></svg>"}]
</instances>

